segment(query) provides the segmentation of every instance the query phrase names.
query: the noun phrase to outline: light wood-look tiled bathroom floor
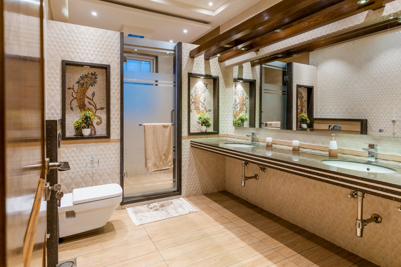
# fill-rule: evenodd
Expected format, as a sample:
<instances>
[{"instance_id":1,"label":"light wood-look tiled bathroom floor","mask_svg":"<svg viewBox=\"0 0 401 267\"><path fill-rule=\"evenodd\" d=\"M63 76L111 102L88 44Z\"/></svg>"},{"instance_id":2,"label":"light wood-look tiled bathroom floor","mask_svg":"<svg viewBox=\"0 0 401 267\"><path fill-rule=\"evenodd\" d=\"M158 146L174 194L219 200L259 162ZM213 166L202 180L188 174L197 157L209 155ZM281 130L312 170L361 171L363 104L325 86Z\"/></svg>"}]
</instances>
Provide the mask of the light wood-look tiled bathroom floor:
<instances>
[{"instance_id":1,"label":"light wood-look tiled bathroom floor","mask_svg":"<svg viewBox=\"0 0 401 267\"><path fill-rule=\"evenodd\" d=\"M377 266L229 192L185 198L199 212L135 226L126 210L60 243L86 266Z\"/></svg>"}]
</instances>

